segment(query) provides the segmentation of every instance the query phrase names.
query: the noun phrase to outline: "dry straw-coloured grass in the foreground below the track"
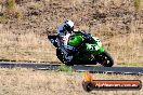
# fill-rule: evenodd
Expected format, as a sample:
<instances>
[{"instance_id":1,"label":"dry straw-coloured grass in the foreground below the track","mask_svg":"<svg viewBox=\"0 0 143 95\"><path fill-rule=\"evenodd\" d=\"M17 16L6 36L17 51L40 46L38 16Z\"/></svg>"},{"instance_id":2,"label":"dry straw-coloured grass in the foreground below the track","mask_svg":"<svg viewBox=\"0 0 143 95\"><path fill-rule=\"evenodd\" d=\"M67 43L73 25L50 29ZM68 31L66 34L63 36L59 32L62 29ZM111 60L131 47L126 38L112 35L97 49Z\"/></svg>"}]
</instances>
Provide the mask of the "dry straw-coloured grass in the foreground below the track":
<instances>
[{"instance_id":1,"label":"dry straw-coloured grass in the foreground below the track","mask_svg":"<svg viewBox=\"0 0 143 95\"><path fill-rule=\"evenodd\" d=\"M32 69L0 69L0 95L142 95L141 91L82 90L83 73L37 71ZM94 74L95 80L141 80L142 76Z\"/></svg>"}]
</instances>

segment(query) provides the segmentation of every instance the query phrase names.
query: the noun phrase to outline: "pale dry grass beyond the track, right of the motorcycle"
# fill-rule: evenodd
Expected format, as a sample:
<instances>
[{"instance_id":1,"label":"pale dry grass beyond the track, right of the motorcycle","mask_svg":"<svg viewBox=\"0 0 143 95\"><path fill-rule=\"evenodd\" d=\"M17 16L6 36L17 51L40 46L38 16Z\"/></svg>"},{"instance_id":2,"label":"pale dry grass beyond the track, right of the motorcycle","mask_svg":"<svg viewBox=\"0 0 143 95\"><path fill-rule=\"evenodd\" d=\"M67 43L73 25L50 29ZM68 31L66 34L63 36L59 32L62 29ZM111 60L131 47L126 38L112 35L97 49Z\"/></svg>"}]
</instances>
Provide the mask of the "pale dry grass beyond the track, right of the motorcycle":
<instances>
[{"instance_id":1,"label":"pale dry grass beyond the track, right of the motorcycle","mask_svg":"<svg viewBox=\"0 0 143 95\"><path fill-rule=\"evenodd\" d=\"M142 33L116 36L104 42L106 50L114 56L116 63L142 63L143 43Z\"/></svg>"}]
</instances>

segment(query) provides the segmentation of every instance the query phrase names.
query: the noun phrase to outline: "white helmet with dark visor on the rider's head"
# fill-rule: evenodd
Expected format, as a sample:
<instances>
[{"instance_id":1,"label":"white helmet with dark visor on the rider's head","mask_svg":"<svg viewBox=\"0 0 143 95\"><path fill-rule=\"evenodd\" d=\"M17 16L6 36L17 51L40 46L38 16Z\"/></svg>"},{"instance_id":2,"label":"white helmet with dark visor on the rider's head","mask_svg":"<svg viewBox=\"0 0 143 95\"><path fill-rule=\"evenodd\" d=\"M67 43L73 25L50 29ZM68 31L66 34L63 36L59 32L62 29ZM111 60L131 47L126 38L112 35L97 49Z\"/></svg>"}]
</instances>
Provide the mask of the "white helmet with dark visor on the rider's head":
<instances>
[{"instance_id":1,"label":"white helmet with dark visor on the rider's head","mask_svg":"<svg viewBox=\"0 0 143 95\"><path fill-rule=\"evenodd\" d=\"M74 22L67 19L64 22L64 29L72 33L74 31Z\"/></svg>"}]
</instances>

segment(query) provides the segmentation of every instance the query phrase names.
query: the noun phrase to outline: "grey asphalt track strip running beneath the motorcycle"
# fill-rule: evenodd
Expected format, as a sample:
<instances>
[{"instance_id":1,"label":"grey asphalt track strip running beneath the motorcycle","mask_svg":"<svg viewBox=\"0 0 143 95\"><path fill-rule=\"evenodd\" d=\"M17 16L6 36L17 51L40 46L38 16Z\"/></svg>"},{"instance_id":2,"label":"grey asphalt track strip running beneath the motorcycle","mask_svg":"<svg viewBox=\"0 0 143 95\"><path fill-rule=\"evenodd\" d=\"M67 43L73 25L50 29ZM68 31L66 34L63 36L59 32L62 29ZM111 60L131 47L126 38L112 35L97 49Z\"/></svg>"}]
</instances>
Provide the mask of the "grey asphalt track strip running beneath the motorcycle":
<instances>
[{"instance_id":1,"label":"grey asphalt track strip running beneath the motorcycle","mask_svg":"<svg viewBox=\"0 0 143 95\"><path fill-rule=\"evenodd\" d=\"M0 63L1 68L32 68L37 70L56 70L60 64L30 64L30 63ZM74 71L90 71L93 73L125 73L125 74L142 74L143 67L102 67L102 66L73 66Z\"/></svg>"}]
</instances>

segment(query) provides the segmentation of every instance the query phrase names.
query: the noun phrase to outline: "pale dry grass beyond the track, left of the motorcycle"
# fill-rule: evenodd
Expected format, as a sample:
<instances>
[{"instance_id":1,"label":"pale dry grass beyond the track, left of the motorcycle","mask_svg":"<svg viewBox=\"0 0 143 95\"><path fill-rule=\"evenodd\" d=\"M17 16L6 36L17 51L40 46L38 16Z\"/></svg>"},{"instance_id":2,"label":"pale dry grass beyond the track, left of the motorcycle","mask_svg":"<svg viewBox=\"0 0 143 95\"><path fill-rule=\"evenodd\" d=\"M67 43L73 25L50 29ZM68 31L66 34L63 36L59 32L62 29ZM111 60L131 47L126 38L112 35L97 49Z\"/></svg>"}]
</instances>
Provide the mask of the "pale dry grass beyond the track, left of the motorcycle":
<instances>
[{"instance_id":1,"label":"pale dry grass beyond the track, left of the motorcycle","mask_svg":"<svg viewBox=\"0 0 143 95\"><path fill-rule=\"evenodd\" d=\"M47 37L34 32L15 35L10 31L0 32L0 59L16 62L57 62L55 49Z\"/></svg>"}]
</instances>

